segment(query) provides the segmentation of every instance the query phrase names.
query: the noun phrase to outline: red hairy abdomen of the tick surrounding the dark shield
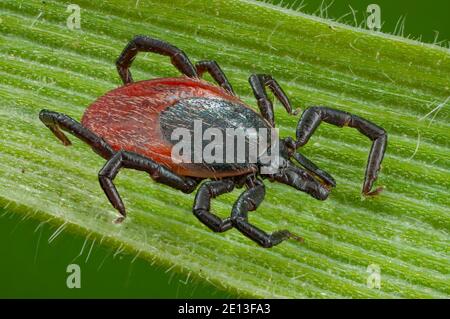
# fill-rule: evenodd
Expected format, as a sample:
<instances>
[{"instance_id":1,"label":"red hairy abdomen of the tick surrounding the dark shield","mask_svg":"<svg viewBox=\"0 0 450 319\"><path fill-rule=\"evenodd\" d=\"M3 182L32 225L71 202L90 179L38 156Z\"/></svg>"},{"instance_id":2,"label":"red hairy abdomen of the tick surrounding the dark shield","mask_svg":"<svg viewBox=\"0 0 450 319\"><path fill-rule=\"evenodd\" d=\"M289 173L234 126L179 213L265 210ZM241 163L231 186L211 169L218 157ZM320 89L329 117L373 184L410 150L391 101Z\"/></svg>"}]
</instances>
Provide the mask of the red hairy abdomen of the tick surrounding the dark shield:
<instances>
[{"instance_id":1,"label":"red hairy abdomen of the tick surrounding the dark shield","mask_svg":"<svg viewBox=\"0 0 450 319\"><path fill-rule=\"evenodd\" d=\"M220 98L243 105L223 89L205 81L190 78L164 78L135 82L114 89L92 103L81 123L101 136L115 151L142 154L184 176L221 177L240 175L235 171L214 174L171 160L172 144L161 135L160 113L180 100Z\"/></svg>"}]
</instances>

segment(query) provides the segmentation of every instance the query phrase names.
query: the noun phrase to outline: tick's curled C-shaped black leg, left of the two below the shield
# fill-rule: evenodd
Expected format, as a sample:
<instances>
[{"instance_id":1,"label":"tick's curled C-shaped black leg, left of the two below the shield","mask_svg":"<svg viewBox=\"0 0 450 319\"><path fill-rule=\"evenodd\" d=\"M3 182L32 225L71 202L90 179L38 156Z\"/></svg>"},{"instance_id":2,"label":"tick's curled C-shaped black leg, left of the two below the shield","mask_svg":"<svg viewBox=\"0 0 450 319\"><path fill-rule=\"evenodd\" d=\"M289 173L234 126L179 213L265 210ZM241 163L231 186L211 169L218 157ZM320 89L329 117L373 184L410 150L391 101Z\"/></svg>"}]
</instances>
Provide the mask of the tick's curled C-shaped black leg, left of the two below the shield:
<instances>
[{"instance_id":1,"label":"tick's curled C-shaped black leg, left of the two below the shield","mask_svg":"<svg viewBox=\"0 0 450 319\"><path fill-rule=\"evenodd\" d=\"M206 182L200 186L195 196L194 215L212 231L224 232L233 227L230 218L221 219L211 213L211 199L231 192L234 186L230 179Z\"/></svg>"}]
</instances>

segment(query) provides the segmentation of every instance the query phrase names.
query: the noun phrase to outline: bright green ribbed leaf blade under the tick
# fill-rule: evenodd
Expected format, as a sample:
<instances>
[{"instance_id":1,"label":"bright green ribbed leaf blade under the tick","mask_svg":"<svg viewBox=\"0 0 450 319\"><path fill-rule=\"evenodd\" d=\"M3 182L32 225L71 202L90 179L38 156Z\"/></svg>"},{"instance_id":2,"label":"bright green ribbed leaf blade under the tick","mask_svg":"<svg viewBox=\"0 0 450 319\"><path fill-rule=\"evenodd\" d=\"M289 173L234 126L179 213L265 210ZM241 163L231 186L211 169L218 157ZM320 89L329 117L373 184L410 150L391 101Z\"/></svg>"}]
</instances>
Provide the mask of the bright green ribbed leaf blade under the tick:
<instances>
[{"instance_id":1,"label":"bright green ribbed leaf blade under the tick","mask_svg":"<svg viewBox=\"0 0 450 319\"><path fill-rule=\"evenodd\" d=\"M450 96L448 50L330 28L253 2L149 1L138 9L135 1L78 3L79 31L67 29L63 2L0 4L1 204L242 296L450 295L448 105L430 113ZM242 15L249 10L255 14ZM129 218L113 225L116 213L96 178L104 161L74 138L64 148L37 115L48 108L79 119L119 86L114 61L135 34L172 42L192 60L217 60L251 106L247 77L271 73L296 107L327 105L380 124L389 132L378 182L385 192L361 199L370 141L325 124L304 152L336 177L330 199L318 202L267 183L265 202L250 217L265 230L301 234L303 245L265 250L235 230L212 233L190 213L194 195L129 171L117 178ZM139 79L177 75L167 59L144 54L133 72ZM276 118L282 135L294 134L298 118L278 105ZM217 199L213 209L227 216L238 194ZM371 264L381 268L380 290L366 285Z\"/></svg>"}]
</instances>

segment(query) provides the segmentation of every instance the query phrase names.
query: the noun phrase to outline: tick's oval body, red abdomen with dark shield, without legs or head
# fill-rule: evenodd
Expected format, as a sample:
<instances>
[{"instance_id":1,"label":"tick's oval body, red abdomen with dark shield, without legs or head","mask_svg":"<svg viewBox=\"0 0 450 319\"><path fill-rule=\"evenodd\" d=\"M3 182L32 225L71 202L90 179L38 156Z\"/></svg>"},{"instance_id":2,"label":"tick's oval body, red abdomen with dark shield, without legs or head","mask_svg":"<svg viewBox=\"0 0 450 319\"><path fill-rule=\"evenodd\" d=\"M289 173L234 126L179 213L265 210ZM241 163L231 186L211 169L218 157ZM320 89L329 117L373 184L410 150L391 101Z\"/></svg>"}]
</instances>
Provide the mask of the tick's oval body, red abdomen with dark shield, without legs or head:
<instances>
[{"instance_id":1,"label":"tick's oval body, red abdomen with dark shield, without legs or head","mask_svg":"<svg viewBox=\"0 0 450 319\"><path fill-rule=\"evenodd\" d=\"M231 168L224 163L174 162L173 129L192 131L196 120L220 129L270 128L236 96L188 77L141 81L112 90L91 104L81 124L106 140L114 151L141 154L182 176L222 178L257 171L251 163L233 163Z\"/></svg>"}]
</instances>

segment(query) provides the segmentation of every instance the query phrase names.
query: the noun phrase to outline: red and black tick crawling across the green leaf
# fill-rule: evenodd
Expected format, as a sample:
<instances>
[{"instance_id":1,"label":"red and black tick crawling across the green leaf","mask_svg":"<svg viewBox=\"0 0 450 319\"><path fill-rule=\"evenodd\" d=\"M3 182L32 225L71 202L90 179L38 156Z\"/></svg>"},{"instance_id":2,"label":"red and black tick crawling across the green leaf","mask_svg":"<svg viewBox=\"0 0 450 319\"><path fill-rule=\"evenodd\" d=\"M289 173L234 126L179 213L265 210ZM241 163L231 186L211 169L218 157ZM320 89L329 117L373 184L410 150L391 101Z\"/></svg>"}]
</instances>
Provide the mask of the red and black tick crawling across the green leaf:
<instances>
[{"instance_id":1,"label":"red and black tick crawling across the green leaf","mask_svg":"<svg viewBox=\"0 0 450 319\"><path fill-rule=\"evenodd\" d=\"M170 57L183 76L134 82L129 68L139 52ZM182 50L146 36L131 40L116 66L124 85L92 103L81 123L49 110L42 110L39 118L64 145L71 143L61 130L81 139L107 160L98 178L120 214L116 219L118 223L125 219L126 210L113 181L121 168L131 168L147 172L154 181L184 193L198 188L193 213L215 232L236 228L263 247L272 247L288 238L300 239L287 230L267 233L255 227L249 222L248 212L256 210L263 201L265 179L289 185L318 200L328 197L336 186L335 180L299 152L321 122L356 128L373 142L362 193L370 196L381 191L381 188L373 190L372 186L387 145L385 130L357 115L323 106L309 107L302 113L295 139L277 137L279 169L274 173L262 174L266 164L259 161L231 164L174 161L171 156L174 142L170 139L174 128L192 128L194 120L202 120L222 131L237 127L271 129L275 127L274 110L266 89L288 113L294 114L288 97L272 76L251 75L249 82L260 111L257 113L235 94L215 61L200 61L194 65ZM217 85L201 79L205 72ZM245 190L233 205L229 218L222 219L211 212L213 198L242 187Z\"/></svg>"}]
</instances>

